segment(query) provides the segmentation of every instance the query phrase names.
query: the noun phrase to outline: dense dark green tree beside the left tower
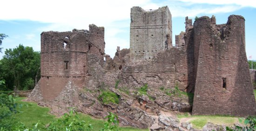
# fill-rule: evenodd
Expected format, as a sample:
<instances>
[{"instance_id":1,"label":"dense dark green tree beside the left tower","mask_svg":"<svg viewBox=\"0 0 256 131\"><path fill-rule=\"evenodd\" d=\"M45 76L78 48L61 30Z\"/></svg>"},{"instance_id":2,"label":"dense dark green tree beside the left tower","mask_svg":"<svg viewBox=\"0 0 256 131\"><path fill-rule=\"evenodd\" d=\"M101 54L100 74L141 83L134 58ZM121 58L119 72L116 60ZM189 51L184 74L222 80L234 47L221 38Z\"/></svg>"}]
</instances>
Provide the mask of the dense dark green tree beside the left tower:
<instances>
[{"instance_id":1,"label":"dense dark green tree beside the left tower","mask_svg":"<svg viewBox=\"0 0 256 131\"><path fill-rule=\"evenodd\" d=\"M34 52L32 47L19 45L7 49L0 60L0 79L5 79L8 90L16 86L19 90L30 90L40 77L37 75L40 67L40 52ZM35 79L35 80L34 80ZM1 90L1 89L0 89Z\"/></svg>"}]
</instances>

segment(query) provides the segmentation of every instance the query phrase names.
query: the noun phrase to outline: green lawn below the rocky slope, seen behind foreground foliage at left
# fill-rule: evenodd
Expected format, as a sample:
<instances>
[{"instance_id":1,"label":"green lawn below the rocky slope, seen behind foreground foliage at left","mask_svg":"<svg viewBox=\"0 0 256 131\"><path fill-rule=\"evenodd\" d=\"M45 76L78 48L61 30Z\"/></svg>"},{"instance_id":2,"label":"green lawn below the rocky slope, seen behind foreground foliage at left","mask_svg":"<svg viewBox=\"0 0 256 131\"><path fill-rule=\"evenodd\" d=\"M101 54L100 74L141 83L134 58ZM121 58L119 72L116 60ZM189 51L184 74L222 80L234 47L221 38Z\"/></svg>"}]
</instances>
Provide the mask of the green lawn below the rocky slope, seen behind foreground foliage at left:
<instances>
[{"instance_id":1,"label":"green lawn below the rocky slope, seen behind foreground foliage at left","mask_svg":"<svg viewBox=\"0 0 256 131\"><path fill-rule=\"evenodd\" d=\"M18 110L22 112L17 113L15 116L20 122L25 124L25 126L33 128L33 124L36 124L38 121L47 124L57 119L54 115L48 113L50 111L48 107L40 107L34 102L21 101L22 99L24 98L16 98L16 103L22 104L23 106L22 108L18 108ZM104 120L91 118L84 113L78 113L78 116L81 120L92 124L93 131L99 131L104 128ZM121 131L148 131L148 129L142 130L133 127L120 127L120 129Z\"/></svg>"}]
</instances>

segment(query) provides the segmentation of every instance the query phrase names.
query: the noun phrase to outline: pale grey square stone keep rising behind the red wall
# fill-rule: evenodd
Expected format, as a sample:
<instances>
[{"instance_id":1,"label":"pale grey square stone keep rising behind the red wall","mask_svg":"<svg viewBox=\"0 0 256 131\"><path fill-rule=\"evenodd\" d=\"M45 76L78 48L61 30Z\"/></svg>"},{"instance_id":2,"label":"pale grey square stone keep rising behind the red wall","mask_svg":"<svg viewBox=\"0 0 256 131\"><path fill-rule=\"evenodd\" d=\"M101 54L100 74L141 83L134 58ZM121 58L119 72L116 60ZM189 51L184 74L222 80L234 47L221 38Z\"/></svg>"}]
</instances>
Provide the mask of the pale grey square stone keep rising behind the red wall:
<instances>
[{"instance_id":1,"label":"pale grey square stone keep rising behind the red wall","mask_svg":"<svg viewBox=\"0 0 256 131\"><path fill-rule=\"evenodd\" d=\"M172 45L172 20L168 7L157 10L131 8L130 61L150 60Z\"/></svg>"}]
</instances>

